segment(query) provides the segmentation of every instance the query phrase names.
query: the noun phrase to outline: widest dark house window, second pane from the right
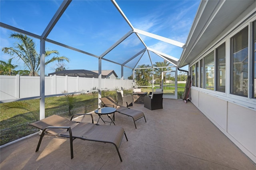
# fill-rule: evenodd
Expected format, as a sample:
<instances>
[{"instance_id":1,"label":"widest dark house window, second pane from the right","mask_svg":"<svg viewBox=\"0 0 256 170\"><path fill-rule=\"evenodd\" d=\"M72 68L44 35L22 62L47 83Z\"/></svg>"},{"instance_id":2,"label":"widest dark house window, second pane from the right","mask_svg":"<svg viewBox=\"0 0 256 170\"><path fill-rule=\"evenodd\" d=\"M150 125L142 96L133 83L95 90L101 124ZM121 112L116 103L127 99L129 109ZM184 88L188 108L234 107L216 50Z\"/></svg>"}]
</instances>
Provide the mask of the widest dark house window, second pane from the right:
<instances>
[{"instance_id":1,"label":"widest dark house window, second pane from the right","mask_svg":"<svg viewBox=\"0 0 256 170\"><path fill-rule=\"evenodd\" d=\"M231 94L248 96L248 27L231 38Z\"/></svg>"}]
</instances>

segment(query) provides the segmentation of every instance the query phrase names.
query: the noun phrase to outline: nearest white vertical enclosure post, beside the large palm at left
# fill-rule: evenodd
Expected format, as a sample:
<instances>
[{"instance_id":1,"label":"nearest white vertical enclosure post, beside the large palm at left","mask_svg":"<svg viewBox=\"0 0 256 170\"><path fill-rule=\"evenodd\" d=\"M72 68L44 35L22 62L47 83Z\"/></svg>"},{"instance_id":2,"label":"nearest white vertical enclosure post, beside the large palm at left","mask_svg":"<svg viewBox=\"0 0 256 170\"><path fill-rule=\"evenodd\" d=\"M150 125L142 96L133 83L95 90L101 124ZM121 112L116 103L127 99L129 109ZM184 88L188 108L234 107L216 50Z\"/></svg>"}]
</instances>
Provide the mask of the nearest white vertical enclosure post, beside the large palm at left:
<instances>
[{"instance_id":1,"label":"nearest white vertical enclosure post, beside the large palm at left","mask_svg":"<svg viewBox=\"0 0 256 170\"><path fill-rule=\"evenodd\" d=\"M40 120L45 118L45 91L44 91L44 69L45 69L45 40L40 40Z\"/></svg>"}]
</instances>

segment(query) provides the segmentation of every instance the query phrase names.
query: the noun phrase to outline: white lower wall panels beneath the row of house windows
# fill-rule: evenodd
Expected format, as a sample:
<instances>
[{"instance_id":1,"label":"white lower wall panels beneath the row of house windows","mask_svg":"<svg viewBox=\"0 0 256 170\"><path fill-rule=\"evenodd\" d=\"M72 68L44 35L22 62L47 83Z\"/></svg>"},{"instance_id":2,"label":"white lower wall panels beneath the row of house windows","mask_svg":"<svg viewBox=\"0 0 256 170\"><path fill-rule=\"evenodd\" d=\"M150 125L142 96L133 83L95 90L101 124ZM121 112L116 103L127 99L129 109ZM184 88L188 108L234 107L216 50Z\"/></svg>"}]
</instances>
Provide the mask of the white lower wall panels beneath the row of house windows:
<instances>
[{"instance_id":1,"label":"white lower wall panels beneath the row of house windows","mask_svg":"<svg viewBox=\"0 0 256 170\"><path fill-rule=\"evenodd\" d=\"M254 110L193 88L191 102L256 162L256 112Z\"/></svg>"}]
</instances>

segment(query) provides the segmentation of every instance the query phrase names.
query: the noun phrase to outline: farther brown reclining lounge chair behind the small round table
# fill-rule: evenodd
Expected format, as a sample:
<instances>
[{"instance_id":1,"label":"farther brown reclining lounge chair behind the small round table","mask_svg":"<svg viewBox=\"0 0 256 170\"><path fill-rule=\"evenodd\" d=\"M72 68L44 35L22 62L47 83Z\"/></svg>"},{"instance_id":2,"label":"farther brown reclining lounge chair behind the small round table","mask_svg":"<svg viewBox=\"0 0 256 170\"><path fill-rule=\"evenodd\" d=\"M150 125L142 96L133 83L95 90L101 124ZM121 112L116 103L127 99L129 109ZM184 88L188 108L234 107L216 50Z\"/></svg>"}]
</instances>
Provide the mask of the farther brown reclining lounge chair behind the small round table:
<instances>
[{"instance_id":1,"label":"farther brown reclining lounge chair behind the small round table","mask_svg":"<svg viewBox=\"0 0 256 170\"><path fill-rule=\"evenodd\" d=\"M121 114L126 115L128 117L132 117L132 119L134 121L135 128L137 128L135 121L139 120L140 118L144 117L145 122L147 122L146 118L145 118L145 115L142 111L137 111L137 110L134 110L134 109L130 109L130 108L128 108L128 105L126 105L126 107L120 106L111 97L102 97L102 98L100 98L100 100L102 101L102 103L104 103L104 107L114 107L114 108L116 108L116 111L118 113L121 113ZM115 120L115 117L114 117L114 120Z\"/></svg>"}]
</instances>

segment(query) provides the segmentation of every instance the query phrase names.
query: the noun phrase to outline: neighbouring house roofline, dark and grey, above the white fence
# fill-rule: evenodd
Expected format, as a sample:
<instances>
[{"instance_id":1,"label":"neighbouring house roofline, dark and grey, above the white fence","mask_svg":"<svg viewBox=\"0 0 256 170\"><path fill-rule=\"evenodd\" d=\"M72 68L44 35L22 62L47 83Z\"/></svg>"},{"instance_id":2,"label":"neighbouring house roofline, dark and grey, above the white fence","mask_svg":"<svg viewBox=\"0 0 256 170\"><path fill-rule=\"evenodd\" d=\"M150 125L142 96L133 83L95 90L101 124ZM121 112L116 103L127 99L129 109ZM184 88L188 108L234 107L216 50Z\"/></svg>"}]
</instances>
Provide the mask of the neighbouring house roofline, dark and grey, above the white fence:
<instances>
[{"instance_id":1,"label":"neighbouring house roofline, dark and grey, above the white fence","mask_svg":"<svg viewBox=\"0 0 256 170\"><path fill-rule=\"evenodd\" d=\"M114 70L102 70L102 78L108 78L111 74L114 74L118 77ZM89 78L98 78L98 70L89 71L89 70L62 70L54 73L49 73L50 75L62 75L62 76L71 76L71 77L89 77Z\"/></svg>"}]
</instances>

